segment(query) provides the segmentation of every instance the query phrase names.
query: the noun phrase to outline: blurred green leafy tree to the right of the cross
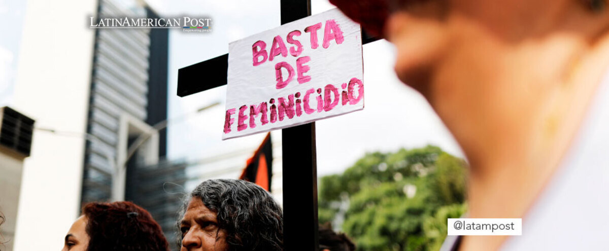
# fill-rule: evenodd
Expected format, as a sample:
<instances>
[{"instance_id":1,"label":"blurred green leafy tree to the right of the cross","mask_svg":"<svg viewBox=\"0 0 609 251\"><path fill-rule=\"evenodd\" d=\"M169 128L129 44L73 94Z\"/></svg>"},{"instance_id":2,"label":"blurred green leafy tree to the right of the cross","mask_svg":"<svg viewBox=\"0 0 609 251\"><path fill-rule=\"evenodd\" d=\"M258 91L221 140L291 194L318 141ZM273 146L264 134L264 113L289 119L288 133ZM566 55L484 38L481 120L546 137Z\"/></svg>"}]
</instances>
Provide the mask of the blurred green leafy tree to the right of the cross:
<instances>
[{"instance_id":1,"label":"blurred green leafy tree to the right of the cross","mask_svg":"<svg viewBox=\"0 0 609 251\"><path fill-rule=\"evenodd\" d=\"M334 219L347 200L342 230L357 250L438 250L446 219L465 213L465 180L465 161L439 147L369 153L322 177L319 219Z\"/></svg>"}]
</instances>

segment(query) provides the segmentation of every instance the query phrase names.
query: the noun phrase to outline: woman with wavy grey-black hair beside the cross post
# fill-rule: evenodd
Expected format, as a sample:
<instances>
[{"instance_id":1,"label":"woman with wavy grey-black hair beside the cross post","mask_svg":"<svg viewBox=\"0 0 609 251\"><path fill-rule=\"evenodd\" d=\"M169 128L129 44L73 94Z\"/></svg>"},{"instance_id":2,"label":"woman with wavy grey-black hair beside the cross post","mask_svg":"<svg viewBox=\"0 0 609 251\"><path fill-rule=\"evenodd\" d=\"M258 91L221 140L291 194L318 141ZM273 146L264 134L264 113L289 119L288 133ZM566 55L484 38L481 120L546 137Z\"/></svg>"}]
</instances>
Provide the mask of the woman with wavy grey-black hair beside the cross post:
<instances>
[{"instance_id":1,"label":"woman with wavy grey-black hair beside the cross post","mask_svg":"<svg viewBox=\"0 0 609 251\"><path fill-rule=\"evenodd\" d=\"M281 208L252 182L206 180L188 196L181 215L182 251L283 250Z\"/></svg>"}]
</instances>

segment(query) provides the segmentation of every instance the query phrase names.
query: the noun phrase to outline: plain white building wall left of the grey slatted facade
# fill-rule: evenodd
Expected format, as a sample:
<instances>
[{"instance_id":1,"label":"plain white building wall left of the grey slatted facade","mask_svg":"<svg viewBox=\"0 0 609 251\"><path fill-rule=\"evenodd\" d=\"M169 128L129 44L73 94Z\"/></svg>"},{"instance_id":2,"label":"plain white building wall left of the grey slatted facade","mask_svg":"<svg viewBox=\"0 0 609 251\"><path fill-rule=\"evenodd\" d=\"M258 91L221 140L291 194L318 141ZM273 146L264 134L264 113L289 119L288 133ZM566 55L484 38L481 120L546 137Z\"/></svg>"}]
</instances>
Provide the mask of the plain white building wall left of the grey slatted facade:
<instances>
[{"instance_id":1,"label":"plain white building wall left of the grey slatted facade","mask_svg":"<svg viewBox=\"0 0 609 251\"><path fill-rule=\"evenodd\" d=\"M27 1L13 103L37 127L86 132L95 34L85 18L96 5ZM13 245L18 251L59 250L79 214L85 138L38 130L33 138Z\"/></svg>"}]
</instances>

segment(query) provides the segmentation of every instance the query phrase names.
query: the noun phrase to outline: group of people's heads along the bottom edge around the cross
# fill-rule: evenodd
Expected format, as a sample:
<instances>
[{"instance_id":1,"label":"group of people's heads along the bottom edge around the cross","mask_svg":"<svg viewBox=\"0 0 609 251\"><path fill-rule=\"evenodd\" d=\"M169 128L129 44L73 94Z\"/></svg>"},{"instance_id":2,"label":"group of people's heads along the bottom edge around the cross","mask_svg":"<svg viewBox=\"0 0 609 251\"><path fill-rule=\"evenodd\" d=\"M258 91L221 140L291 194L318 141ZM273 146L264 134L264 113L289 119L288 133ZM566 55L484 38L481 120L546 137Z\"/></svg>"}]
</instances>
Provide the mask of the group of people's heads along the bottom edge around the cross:
<instances>
[{"instance_id":1,"label":"group of people's heads along the bottom edge around the cross","mask_svg":"<svg viewBox=\"0 0 609 251\"><path fill-rule=\"evenodd\" d=\"M183 251L283 250L283 212L255 183L217 179L200 183L177 221ZM62 251L169 250L148 211L132 202L87 203L65 236ZM320 227L320 250L354 251L347 236Z\"/></svg>"}]
</instances>

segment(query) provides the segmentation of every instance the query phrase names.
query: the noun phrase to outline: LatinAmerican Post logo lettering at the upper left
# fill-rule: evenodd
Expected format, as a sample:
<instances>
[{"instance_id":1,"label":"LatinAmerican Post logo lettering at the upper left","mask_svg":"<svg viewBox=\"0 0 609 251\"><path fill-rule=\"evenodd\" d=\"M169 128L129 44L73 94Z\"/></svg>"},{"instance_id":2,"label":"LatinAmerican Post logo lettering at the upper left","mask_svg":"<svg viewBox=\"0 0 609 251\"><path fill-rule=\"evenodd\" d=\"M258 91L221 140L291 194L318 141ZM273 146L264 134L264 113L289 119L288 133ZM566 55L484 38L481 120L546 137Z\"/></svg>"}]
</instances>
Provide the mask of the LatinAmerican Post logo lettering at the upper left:
<instances>
[{"instance_id":1,"label":"LatinAmerican Post logo lettering at the upper left","mask_svg":"<svg viewBox=\"0 0 609 251\"><path fill-rule=\"evenodd\" d=\"M208 17L133 18L128 16L90 16L89 21L90 29L182 29L184 32L211 32L212 30L212 19Z\"/></svg>"}]
</instances>

